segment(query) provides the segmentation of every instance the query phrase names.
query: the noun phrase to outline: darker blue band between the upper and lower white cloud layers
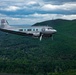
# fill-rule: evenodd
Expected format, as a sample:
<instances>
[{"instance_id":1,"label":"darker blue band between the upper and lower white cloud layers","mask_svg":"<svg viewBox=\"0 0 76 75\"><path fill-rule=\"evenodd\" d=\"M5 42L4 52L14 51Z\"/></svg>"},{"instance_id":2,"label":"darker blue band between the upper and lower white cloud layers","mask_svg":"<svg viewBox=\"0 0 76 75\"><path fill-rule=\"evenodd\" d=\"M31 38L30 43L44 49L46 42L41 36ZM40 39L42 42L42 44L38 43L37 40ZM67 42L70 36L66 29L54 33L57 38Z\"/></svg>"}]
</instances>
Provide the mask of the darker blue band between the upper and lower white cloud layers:
<instances>
[{"instance_id":1,"label":"darker blue band between the upper and lower white cloud layers","mask_svg":"<svg viewBox=\"0 0 76 75\"><path fill-rule=\"evenodd\" d=\"M72 15L72 14L76 14L75 10L54 10L54 11L45 11L45 10L17 10L17 11L4 11L4 10L0 10L1 14L7 15L9 17L14 17L14 18L26 18L26 16L23 15L30 15L30 14L34 14L34 13L39 13L39 14L63 14L63 15ZM18 15L18 16L17 16Z\"/></svg>"}]
</instances>

